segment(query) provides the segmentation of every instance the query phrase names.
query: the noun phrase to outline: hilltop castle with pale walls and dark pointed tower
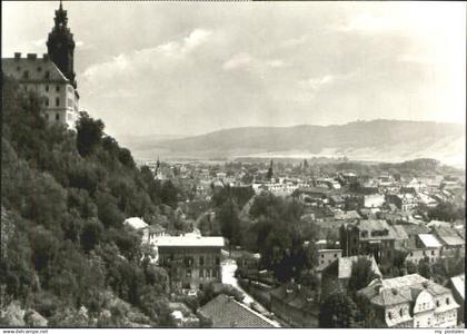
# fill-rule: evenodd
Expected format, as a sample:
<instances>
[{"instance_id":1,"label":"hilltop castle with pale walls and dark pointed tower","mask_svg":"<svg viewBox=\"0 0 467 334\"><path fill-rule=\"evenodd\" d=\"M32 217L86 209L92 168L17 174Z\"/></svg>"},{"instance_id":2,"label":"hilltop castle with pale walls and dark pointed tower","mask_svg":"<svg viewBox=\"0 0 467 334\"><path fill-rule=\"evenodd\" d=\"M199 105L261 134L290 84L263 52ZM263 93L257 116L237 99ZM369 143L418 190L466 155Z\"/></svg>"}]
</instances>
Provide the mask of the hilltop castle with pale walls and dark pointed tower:
<instances>
[{"instance_id":1,"label":"hilltop castle with pale walls and dark pointed tower","mask_svg":"<svg viewBox=\"0 0 467 334\"><path fill-rule=\"evenodd\" d=\"M47 53L14 52L14 58L2 59L2 72L14 78L26 91L40 98L44 117L50 124L74 128L78 119L79 94L73 70L74 40L68 27L67 11L60 1L54 26L47 40Z\"/></svg>"}]
</instances>

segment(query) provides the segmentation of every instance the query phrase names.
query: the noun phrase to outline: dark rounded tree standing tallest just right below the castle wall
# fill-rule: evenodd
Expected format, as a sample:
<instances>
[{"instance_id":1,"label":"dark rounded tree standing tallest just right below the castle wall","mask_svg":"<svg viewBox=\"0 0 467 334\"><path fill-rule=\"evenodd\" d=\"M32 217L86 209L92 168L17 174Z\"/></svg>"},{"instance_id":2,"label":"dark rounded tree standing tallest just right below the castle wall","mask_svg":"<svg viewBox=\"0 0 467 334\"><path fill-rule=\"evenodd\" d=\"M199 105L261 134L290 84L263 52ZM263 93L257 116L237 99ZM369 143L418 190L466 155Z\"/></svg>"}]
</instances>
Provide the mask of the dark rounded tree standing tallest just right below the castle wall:
<instances>
[{"instance_id":1,"label":"dark rounded tree standing tallest just right below the castle wall","mask_svg":"<svg viewBox=\"0 0 467 334\"><path fill-rule=\"evenodd\" d=\"M103 122L81 111L77 121L77 148L82 157L90 155L103 136Z\"/></svg>"}]
</instances>

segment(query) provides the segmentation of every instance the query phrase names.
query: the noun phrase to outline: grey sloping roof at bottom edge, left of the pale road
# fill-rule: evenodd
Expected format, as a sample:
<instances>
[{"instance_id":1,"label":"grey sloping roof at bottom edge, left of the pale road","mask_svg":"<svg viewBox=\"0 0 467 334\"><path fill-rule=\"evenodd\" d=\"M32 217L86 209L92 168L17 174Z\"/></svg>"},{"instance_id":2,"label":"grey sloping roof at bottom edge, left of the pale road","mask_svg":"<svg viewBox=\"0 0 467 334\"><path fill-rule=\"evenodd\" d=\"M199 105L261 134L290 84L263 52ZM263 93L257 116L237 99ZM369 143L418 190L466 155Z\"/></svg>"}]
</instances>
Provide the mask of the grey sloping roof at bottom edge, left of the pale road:
<instances>
[{"instance_id":1,"label":"grey sloping roof at bottom edge, left of the pale road","mask_svg":"<svg viewBox=\"0 0 467 334\"><path fill-rule=\"evenodd\" d=\"M209 318L212 327L272 328L276 322L237 302L232 296L218 295L198 310L198 315Z\"/></svg>"}]
</instances>

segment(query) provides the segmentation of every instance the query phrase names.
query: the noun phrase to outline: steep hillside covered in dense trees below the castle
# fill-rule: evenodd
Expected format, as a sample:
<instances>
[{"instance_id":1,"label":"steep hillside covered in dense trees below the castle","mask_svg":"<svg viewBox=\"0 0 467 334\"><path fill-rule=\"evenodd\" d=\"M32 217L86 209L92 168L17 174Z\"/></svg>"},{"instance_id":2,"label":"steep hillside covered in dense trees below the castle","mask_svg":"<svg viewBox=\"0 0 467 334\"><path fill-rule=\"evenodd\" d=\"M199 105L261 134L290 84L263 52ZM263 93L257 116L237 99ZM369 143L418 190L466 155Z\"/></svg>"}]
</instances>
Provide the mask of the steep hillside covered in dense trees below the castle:
<instances>
[{"instance_id":1,"label":"steep hillside covered in dense trees below the castle","mask_svg":"<svg viewBox=\"0 0 467 334\"><path fill-rule=\"evenodd\" d=\"M39 98L2 80L0 325L171 325L168 275L122 223L167 215L177 189L137 168L102 121L48 126Z\"/></svg>"}]
</instances>

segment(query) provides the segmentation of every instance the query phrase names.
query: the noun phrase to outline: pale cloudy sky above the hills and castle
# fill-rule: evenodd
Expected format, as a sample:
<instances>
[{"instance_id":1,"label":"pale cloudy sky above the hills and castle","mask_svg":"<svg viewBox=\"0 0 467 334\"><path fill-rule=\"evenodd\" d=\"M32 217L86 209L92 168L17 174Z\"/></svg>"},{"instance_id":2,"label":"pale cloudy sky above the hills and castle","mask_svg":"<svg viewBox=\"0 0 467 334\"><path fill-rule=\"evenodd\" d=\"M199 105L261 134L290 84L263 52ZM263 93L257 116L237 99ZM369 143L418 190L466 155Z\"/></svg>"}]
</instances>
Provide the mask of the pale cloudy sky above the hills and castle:
<instances>
[{"instance_id":1,"label":"pale cloudy sky above the hills and castle","mask_svg":"<svg viewBox=\"0 0 467 334\"><path fill-rule=\"evenodd\" d=\"M466 2L63 1L80 108L115 137L405 119L465 124ZM2 2L2 57L58 1Z\"/></svg>"}]
</instances>

